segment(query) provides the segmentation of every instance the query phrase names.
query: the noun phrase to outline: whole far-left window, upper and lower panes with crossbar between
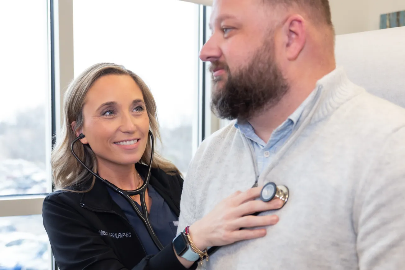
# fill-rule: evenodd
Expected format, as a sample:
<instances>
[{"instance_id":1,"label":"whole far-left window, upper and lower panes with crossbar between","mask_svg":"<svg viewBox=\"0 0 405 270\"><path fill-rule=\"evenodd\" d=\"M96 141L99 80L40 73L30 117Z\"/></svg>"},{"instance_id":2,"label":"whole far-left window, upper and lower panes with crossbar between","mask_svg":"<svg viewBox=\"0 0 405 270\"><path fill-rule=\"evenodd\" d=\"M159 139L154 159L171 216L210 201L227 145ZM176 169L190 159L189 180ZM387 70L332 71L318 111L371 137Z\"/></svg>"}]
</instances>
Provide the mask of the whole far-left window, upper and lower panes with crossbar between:
<instances>
[{"instance_id":1,"label":"whole far-left window, upper and lower panes with crossbar between","mask_svg":"<svg viewBox=\"0 0 405 270\"><path fill-rule=\"evenodd\" d=\"M51 269L42 224L51 191L48 3L0 2L0 269ZM37 194L37 195L34 195ZM21 216L19 213L23 213ZM37 214L37 215L33 215Z\"/></svg>"}]
</instances>

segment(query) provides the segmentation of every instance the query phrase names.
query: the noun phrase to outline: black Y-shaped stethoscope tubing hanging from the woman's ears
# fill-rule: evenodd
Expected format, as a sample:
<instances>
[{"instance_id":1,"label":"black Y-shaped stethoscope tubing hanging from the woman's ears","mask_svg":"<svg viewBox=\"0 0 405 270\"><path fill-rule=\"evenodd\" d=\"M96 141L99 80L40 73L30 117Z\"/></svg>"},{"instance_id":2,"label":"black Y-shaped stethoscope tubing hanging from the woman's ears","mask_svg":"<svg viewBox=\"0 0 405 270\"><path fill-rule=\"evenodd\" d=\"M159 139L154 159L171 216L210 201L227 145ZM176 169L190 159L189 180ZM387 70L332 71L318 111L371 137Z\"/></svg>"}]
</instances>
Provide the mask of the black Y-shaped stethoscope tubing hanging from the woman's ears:
<instances>
[{"instance_id":1,"label":"black Y-shaped stethoscope tubing hanging from the woman's ears","mask_svg":"<svg viewBox=\"0 0 405 270\"><path fill-rule=\"evenodd\" d=\"M152 225L149 221L149 213L146 207L146 201L145 201L145 194L146 194L146 189L149 185L149 179L151 176L151 168L152 168L152 161L153 161L153 153L154 153L154 141L153 141L153 134L151 131L149 131L149 136L151 139L151 158L148 166L148 173L146 175L145 181L143 182L142 186L139 187L139 189L135 190L124 190L120 189L116 185L110 183L109 181L102 179L98 174L90 170L80 159L77 157L75 154L75 151L73 150L73 145L75 145L75 142L77 142L80 139L83 139L85 136L83 133L81 133L75 140L72 141L70 144L70 151L72 151L73 156L77 159L77 161L91 174L93 174L97 179L100 179L102 182L104 182L109 188L111 188L113 191L124 197L132 206L132 208L135 210L136 214L138 217L142 220L142 222L145 224L145 227L147 231L149 232L149 235L151 236L153 242L155 243L156 247L158 247L159 250L163 249L163 245L160 243L158 236L156 236L156 233L153 231ZM139 210L138 207L136 207L136 204L134 200L132 200L131 196L134 195L139 195L141 197L141 207L142 207L142 212Z\"/></svg>"}]
</instances>

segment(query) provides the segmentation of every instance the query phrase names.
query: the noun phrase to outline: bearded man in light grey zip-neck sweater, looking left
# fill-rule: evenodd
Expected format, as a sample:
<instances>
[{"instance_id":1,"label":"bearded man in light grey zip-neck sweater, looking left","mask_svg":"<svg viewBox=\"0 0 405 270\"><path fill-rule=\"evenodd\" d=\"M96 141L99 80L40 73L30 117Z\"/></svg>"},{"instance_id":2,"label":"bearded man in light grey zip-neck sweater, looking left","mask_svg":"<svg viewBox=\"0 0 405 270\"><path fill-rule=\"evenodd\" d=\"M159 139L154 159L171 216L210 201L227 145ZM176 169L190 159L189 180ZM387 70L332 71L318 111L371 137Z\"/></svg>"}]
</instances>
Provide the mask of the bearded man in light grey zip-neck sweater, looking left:
<instances>
[{"instance_id":1,"label":"bearded man in light grey zip-neck sweater, looking left","mask_svg":"<svg viewBox=\"0 0 405 270\"><path fill-rule=\"evenodd\" d=\"M261 214L279 216L266 236L200 267L404 269L405 110L336 68L328 1L214 0L211 28L212 106L237 121L198 149L179 228L255 181L290 198Z\"/></svg>"}]
</instances>

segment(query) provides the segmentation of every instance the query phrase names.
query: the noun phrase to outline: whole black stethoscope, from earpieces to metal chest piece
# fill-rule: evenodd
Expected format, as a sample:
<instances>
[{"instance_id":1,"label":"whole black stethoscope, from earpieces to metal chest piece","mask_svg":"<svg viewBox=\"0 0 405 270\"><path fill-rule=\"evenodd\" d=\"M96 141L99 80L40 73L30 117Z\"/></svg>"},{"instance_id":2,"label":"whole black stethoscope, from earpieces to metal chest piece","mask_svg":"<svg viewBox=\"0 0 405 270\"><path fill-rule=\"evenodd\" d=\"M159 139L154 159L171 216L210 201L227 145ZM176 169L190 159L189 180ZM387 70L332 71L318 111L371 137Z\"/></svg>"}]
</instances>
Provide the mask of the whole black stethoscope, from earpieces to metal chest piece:
<instances>
[{"instance_id":1,"label":"whole black stethoscope, from earpieces to metal chest piece","mask_svg":"<svg viewBox=\"0 0 405 270\"><path fill-rule=\"evenodd\" d=\"M77 155L75 154L75 151L73 150L73 145L75 144L75 142L77 142L78 140L83 139L85 137L83 133L81 133L77 138L75 138L75 140L72 141L72 143L70 144L70 151L72 151L73 156L88 172L93 174L97 179L100 179L109 188L111 188L113 191L115 191L116 193L118 193L119 195L124 197L130 203L132 208L135 210L135 213L142 220L143 224L145 224L145 227L146 227L149 235L151 236L153 242L155 243L156 247L158 247L158 249L161 251L163 249L163 245L162 245L162 243L160 243L158 236L156 236L156 233L153 231L152 225L149 221L149 213L146 208L146 201L145 201L145 192L149 185L149 179L151 176L151 168L152 168L151 165L152 165L152 161L153 161L153 152L154 152L154 140L153 140L153 134L151 131L149 131L149 136L151 138L151 158L150 158L150 162L149 162L149 166L148 166L148 173L145 177L145 181L143 182L142 186L139 187L139 189L135 189L135 190L120 189L119 187L117 187L114 184L110 183L109 181L101 178L98 174L96 174L95 172L90 170L90 168L88 168L79 159L79 157L77 157ZM253 187L255 187L255 186L257 186L257 183L255 183L253 185ZM138 207L136 207L134 200L132 200L132 198L131 198L131 196L134 196L134 195L139 195L141 197L142 212L139 210ZM273 182L266 183L260 192L260 200L262 200L263 202L269 202L269 201L273 200L273 198L279 198L280 200L283 201L283 206L286 204L286 202L288 200L288 196L289 196L289 191L286 186L284 186L284 185L277 186ZM281 208L283 206L281 206ZM279 208L279 209L281 209L281 208ZM258 215L260 213L261 212L254 213L253 215ZM213 254L219 248L220 247L210 247L208 250L208 254L209 255Z\"/></svg>"}]
</instances>

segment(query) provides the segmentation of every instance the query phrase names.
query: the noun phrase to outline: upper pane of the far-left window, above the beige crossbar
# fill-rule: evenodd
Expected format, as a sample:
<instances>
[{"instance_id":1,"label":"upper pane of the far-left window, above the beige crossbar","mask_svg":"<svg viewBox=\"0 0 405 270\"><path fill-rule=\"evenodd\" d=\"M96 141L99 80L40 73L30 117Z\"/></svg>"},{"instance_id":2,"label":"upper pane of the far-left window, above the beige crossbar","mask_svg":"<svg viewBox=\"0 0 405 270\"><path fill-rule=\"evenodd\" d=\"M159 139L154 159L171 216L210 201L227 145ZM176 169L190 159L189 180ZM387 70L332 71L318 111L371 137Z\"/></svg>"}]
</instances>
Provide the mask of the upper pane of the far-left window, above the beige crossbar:
<instances>
[{"instance_id":1,"label":"upper pane of the far-left window, above the beige crossbar","mask_svg":"<svg viewBox=\"0 0 405 270\"><path fill-rule=\"evenodd\" d=\"M50 191L47 30L45 0L0 3L0 196Z\"/></svg>"}]
</instances>

